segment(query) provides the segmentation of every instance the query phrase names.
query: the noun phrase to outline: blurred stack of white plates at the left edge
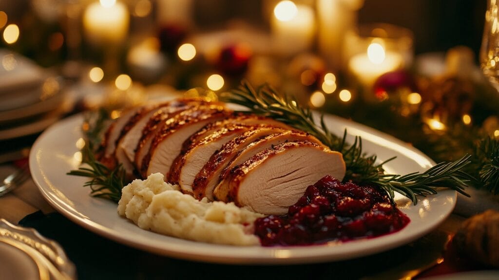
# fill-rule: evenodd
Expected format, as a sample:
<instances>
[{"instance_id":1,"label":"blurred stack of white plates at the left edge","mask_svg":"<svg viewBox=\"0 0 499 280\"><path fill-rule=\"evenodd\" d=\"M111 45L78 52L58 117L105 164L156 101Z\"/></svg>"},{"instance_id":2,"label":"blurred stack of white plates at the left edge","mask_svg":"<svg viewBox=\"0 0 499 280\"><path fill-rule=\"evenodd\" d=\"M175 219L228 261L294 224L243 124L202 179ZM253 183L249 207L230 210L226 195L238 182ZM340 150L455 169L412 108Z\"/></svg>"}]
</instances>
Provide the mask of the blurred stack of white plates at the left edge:
<instances>
[{"instance_id":1,"label":"blurred stack of white plates at the left edge","mask_svg":"<svg viewBox=\"0 0 499 280\"><path fill-rule=\"evenodd\" d=\"M0 140L41 132L70 109L62 80L0 49Z\"/></svg>"}]
</instances>

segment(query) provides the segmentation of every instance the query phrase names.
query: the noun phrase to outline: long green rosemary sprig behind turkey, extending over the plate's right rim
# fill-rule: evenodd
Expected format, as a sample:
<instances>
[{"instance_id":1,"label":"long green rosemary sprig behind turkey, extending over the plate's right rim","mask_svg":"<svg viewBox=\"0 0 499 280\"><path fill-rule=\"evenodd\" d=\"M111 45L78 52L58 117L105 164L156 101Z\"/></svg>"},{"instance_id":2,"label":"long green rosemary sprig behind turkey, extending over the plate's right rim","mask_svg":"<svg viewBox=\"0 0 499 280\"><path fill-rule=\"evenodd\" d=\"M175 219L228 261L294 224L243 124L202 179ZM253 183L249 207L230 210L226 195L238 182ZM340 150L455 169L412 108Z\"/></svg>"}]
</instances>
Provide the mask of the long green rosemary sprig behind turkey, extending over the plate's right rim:
<instances>
[{"instance_id":1,"label":"long green rosemary sprig behind turkey, extending over the plate's right rim","mask_svg":"<svg viewBox=\"0 0 499 280\"><path fill-rule=\"evenodd\" d=\"M268 116L282 121L294 128L306 131L322 143L343 154L347 172L344 181L354 181L358 184L371 184L384 189L391 199L398 192L417 204L416 195L431 195L437 193L437 188L445 187L456 190L466 196L465 187L475 181L475 178L463 168L470 163L470 156L464 156L458 161L440 163L424 173L407 175L384 174L383 163L376 163L375 155L362 152L362 139L355 137L354 143L346 143L346 131L340 138L327 128L324 117L317 124L308 108L298 106L298 102L290 96L282 96L268 85L254 89L248 82L231 92L221 94L220 99L247 107L252 113Z\"/></svg>"}]
</instances>

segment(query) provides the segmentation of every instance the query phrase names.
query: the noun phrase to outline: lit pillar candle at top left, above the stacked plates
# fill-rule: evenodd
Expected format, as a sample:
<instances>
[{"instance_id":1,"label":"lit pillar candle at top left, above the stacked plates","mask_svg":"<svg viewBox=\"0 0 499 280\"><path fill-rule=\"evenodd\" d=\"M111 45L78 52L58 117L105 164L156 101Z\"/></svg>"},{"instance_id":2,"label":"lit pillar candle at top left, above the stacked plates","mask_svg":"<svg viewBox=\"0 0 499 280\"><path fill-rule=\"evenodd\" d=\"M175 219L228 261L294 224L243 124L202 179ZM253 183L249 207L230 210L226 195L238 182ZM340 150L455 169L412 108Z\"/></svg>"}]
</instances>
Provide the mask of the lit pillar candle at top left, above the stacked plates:
<instances>
[{"instance_id":1,"label":"lit pillar candle at top left, above the stacked plates","mask_svg":"<svg viewBox=\"0 0 499 280\"><path fill-rule=\"evenodd\" d=\"M121 43L129 25L127 7L116 0L100 0L88 5L83 14L83 27L88 41L94 45Z\"/></svg>"}]
</instances>

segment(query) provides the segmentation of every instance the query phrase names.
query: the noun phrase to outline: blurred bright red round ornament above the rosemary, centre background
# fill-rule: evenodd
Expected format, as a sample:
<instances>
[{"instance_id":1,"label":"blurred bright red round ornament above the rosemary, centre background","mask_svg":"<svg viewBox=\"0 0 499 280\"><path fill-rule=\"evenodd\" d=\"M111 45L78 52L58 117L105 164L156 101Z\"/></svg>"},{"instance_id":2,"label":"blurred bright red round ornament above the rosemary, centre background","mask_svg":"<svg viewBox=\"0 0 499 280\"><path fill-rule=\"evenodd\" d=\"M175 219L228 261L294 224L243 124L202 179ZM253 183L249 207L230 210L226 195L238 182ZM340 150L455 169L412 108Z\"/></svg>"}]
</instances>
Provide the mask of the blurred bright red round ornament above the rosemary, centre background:
<instances>
[{"instance_id":1,"label":"blurred bright red round ornament above the rosemary, centre background","mask_svg":"<svg viewBox=\"0 0 499 280\"><path fill-rule=\"evenodd\" d=\"M251 49L243 44L229 45L220 50L215 62L217 69L228 75L241 75L248 69Z\"/></svg>"}]
</instances>

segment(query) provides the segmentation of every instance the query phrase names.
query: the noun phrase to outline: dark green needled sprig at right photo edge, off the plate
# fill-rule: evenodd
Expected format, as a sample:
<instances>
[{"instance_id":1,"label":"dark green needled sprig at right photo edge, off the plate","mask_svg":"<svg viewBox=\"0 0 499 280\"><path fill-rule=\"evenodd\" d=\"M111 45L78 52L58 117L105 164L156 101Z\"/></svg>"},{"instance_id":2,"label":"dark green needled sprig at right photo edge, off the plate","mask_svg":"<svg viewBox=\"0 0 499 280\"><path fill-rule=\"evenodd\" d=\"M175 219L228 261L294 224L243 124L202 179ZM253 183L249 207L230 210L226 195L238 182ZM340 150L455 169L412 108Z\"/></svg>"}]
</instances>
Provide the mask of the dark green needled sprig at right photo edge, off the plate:
<instances>
[{"instance_id":1,"label":"dark green needled sprig at right photo edge, off the plate","mask_svg":"<svg viewBox=\"0 0 499 280\"><path fill-rule=\"evenodd\" d=\"M499 140L487 137L477 145L479 176L483 188L499 194Z\"/></svg>"}]
</instances>

